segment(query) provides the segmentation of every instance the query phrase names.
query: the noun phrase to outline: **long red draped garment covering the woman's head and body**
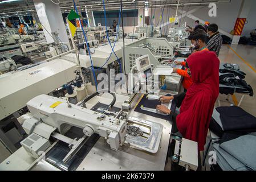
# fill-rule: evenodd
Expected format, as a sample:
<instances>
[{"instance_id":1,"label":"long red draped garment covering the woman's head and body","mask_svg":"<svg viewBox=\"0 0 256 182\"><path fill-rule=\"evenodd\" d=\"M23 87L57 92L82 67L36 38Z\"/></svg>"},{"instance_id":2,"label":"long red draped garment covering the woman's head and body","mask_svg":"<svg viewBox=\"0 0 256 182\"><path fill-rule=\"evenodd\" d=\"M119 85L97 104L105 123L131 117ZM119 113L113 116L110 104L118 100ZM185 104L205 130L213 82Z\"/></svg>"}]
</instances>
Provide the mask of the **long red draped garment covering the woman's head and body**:
<instances>
[{"instance_id":1,"label":"long red draped garment covering the woman's head and body","mask_svg":"<svg viewBox=\"0 0 256 182\"><path fill-rule=\"evenodd\" d=\"M197 142L198 149L203 151L219 94L220 60L214 52L200 51L190 55L186 61L193 84L186 92L176 123L182 136Z\"/></svg>"}]
</instances>

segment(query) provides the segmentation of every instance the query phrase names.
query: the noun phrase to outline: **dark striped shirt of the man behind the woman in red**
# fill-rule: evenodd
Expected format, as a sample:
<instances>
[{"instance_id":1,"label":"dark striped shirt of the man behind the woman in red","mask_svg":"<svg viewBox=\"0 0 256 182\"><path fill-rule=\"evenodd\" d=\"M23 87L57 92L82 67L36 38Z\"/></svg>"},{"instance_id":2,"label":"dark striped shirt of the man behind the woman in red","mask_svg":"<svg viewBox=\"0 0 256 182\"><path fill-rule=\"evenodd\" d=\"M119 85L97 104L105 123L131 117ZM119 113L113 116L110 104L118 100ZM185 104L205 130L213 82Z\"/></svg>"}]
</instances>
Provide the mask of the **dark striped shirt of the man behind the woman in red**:
<instances>
[{"instance_id":1,"label":"dark striped shirt of the man behind the woman in red","mask_svg":"<svg viewBox=\"0 0 256 182\"><path fill-rule=\"evenodd\" d=\"M220 50L222 46L222 37L219 32L210 36L209 42L206 44L206 47L209 51L216 52L217 56L219 56Z\"/></svg>"}]
</instances>

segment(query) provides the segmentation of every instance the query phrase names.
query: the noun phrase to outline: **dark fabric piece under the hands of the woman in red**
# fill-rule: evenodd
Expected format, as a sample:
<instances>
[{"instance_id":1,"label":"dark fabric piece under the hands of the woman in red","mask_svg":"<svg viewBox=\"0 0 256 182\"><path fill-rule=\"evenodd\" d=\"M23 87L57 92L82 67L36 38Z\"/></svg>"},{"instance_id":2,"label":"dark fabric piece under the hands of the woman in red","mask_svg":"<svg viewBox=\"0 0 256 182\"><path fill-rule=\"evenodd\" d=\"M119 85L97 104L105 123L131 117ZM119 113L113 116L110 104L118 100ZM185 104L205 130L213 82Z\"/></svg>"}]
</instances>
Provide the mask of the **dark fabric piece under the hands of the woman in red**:
<instances>
[{"instance_id":1,"label":"dark fabric piece under the hands of the woman in red","mask_svg":"<svg viewBox=\"0 0 256 182\"><path fill-rule=\"evenodd\" d=\"M166 96L171 96L171 95L168 94ZM156 106L160 105L160 104L161 104L161 102L159 100L148 100L147 95L144 95L143 98L141 99L140 103L135 108L135 111L138 113L147 114L147 115L151 115L152 117L170 121L170 115L161 115L161 114L152 113L152 112L140 109L141 105L143 105L144 107L151 108L151 109L156 109Z\"/></svg>"}]
</instances>

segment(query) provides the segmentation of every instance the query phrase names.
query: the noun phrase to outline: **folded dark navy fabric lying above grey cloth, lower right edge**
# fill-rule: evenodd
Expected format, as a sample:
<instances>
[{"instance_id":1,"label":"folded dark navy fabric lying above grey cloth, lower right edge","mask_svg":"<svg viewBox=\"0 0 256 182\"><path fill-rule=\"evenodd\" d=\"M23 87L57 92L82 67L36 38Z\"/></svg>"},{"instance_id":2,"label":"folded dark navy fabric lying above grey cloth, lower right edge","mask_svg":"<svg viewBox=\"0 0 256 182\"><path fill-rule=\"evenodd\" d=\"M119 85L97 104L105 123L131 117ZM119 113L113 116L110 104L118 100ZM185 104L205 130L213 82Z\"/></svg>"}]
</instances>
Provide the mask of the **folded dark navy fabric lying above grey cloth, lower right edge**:
<instances>
[{"instance_id":1,"label":"folded dark navy fabric lying above grey cloth, lower right edge","mask_svg":"<svg viewBox=\"0 0 256 182\"><path fill-rule=\"evenodd\" d=\"M224 131L256 130L256 118L241 107L217 107Z\"/></svg>"}]
</instances>

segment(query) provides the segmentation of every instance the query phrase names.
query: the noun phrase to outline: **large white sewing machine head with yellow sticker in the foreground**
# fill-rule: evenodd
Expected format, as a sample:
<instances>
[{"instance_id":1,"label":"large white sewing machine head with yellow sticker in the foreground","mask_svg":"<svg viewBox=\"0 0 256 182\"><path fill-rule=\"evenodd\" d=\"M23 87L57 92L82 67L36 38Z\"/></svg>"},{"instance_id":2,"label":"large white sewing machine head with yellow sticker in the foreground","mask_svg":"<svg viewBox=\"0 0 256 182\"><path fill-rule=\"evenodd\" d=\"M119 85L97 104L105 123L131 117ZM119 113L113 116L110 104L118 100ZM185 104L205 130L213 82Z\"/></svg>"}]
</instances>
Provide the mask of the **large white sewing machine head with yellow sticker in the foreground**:
<instances>
[{"instance_id":1,"label":"large white sewing machine head with yellow sticker in the foreground","mask_svg":"<svg viewBox=\"0 0 256 182\"><path fill-rule=\"evenodd\" d=\"M29 138L30 135L36 134L44 139L44 142L41 139L39 140L39 142L42 142L39 145L44 146L45 143L48 143L46 140L49 140L55 133L63 135L72 126L83 129L85 137L91 137L94 133L99 134L100 137L107 140L112 150L118 150L119 146L124 143L127 124L125 121L111 115L100 114L47 95L33 98L27 103L27 107L32 117L26 119L22 127L29 134ZM27 148L25 140L21 144ZM79 147L79 145L77 144L76 147ZM32 153L29 152L29 154ZM36 155L32 156L36 157Z\"/></svg>"}]
</instances>

